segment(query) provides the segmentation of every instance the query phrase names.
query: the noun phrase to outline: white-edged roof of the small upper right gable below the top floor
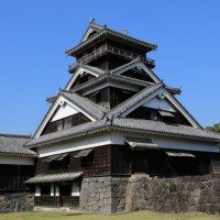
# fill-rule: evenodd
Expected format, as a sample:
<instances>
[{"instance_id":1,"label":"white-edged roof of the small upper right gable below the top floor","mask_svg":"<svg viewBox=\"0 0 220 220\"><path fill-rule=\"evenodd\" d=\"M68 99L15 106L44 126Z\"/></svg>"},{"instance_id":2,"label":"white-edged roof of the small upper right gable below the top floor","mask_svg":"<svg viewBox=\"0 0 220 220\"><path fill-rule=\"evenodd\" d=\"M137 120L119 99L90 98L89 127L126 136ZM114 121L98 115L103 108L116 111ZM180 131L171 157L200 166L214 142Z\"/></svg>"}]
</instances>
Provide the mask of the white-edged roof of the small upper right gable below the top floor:
<instances>
[{"instance_id":1,"label":"white-edged roof of the small upper right gable below the top floor","mask_svg":"<svg viewBox=\"0 0 220 220\"><path fill-rule=\"evenodd\" d=\"M111 70L111 73L116 75L122 75L123 73L135 67L139 69L143 69L155 84L158 84L161 81L161 79L150 68L147 68L147 66L140 58L135 58L132 62Z\"/></svg>"}]
</instances>

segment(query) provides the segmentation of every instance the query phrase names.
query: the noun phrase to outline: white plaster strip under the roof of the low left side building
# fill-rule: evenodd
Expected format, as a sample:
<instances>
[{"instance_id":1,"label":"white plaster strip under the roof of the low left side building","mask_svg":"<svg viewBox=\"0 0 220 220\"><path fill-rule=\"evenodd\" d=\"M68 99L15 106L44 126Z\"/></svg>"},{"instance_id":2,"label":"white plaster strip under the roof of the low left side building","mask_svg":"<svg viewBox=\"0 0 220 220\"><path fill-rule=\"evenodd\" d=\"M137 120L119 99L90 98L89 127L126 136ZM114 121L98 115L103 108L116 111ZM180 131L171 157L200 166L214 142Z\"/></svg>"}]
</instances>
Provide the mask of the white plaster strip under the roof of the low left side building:
<instances>
[{"instance_id":1,"label":"white plaster strip under the roof of the low left side building","mask_svg":"<svg viewBox=\"0 0 220 220\"><path fill-rule=\"evenodd\" d=\"M33 157L0 155L0 164L34 165Z\"/></svg>"}]
</instances>

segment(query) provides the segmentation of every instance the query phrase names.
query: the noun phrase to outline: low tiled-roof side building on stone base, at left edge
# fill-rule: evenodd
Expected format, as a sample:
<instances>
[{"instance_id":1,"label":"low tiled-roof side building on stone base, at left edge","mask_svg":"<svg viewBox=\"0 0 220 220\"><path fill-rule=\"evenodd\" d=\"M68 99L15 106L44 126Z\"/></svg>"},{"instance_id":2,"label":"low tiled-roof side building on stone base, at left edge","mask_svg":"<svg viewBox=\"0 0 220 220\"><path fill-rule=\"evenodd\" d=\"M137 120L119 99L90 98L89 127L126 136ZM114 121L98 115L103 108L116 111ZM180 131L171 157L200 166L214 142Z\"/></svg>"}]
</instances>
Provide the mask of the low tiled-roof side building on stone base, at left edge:
<instances>
[{"instance_id":1,"label":"low tiled-roof side building on stone base, at left edge","mask_svg":"<svg viewBox=\"0 0 220 220\"><path fill-rule=\"evenodd\" d=\"M37 154L24 147L28 135L0 134L0 212L33 209L33 196L24 182L34 176Z\"/></svg>"}]
</instances>

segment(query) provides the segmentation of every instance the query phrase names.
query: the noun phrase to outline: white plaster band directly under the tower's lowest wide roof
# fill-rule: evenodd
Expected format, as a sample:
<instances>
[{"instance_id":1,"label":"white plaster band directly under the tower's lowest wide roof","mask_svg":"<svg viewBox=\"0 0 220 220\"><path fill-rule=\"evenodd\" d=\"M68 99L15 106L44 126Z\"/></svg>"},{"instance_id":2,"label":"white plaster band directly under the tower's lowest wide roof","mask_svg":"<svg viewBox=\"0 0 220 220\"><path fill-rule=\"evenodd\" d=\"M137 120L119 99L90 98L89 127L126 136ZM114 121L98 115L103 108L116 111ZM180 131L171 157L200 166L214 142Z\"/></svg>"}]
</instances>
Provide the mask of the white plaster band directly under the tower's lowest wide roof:
<instances>
[{"instance_id":1,"label":"white plaster band directly under the tower's lowest wide roof","mask_svg":"<svg viewBox=\"0 0 220 220\"><path fill-rule=\"evenodd\" d=\"M96 136L84 138L78 140L72 140L63 144L54 144L37 148L40 157L51 156L61 153L74 152L84 148L91 148L96 146L102 146L107 144L124 145L125 136L145 138L152 139L154 143L158 144L161 148L185 150L185 151L201 151L201 152L219 152L218 144L183 140L174 138L163 138L155 135L138 135L135 133L123 132L103 132Z\"/></svg>"}]
</instances>

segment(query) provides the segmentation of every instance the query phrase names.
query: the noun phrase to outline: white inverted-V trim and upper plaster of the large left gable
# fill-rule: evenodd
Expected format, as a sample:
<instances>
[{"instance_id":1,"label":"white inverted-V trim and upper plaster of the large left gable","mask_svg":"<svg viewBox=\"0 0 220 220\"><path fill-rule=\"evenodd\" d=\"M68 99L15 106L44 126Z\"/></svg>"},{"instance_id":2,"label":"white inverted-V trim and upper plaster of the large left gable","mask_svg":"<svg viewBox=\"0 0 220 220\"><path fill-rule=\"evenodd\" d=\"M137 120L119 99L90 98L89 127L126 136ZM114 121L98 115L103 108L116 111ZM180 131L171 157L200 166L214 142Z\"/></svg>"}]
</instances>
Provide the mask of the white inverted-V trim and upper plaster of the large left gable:
<instances>
[{"instance_id":1,"label":"white inverted-V trim and upper plaster of the large left gable","mask_svg":"<svg viewBox=\"0 0 220 220\"><path fill-rule=\"evenodd\" d=\"M61 110L62 106L68 106L68 108L66 110ZM89 118L91 121L96 121L96 119L94 117L88 114L81 108L77 107L75 103L70 102L64 96L59 95L57 97L56 101L50 108L50 110L46 113L45 118L43 119L42 123L40 124L35 135L34 135L34 139L41 136L42 132L44 131L44 129L48 122L51 122L52 120L55 121L54 117L61 117L62 113L64 116L64 112L67 113L67 110L69 111L69 113L70 113L70 111L72 111L72 113L81 112L87 118Z\"/></svg>"}]
</instances>

